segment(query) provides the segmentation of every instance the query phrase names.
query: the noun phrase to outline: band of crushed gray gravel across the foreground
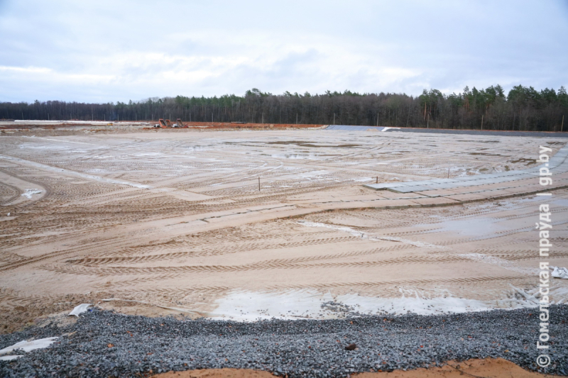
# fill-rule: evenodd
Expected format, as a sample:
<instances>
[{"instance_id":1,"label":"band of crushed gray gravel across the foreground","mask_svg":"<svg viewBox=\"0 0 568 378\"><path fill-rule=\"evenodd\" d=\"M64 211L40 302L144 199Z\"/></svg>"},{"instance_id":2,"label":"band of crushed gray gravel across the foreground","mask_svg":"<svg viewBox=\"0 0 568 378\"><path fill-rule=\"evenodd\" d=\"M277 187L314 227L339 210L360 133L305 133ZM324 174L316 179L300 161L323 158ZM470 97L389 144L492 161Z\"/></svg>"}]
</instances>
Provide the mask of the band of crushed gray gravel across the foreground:
<instances>
[{"instance_id":1,"label":"band of crushed gray gravel across the foreground","mask_svg":"<svg viewBox=\"0 0 568 378\"><path fill-rule=\"evenodd\" d=\"M550 314L552 364L541 371L567 375L568 306L552 306ZM141 377L222 367L289 377L346 377L474 357L503 357L536 369L537 316L535 310L522 309L237 323L124 316L94 309L70 326L0 335L0 348L5 348L23 339L75 332L50 348L0 362L0 377ZM351 343L356 350L345 350Z\"/></svg>"}]
</instances>

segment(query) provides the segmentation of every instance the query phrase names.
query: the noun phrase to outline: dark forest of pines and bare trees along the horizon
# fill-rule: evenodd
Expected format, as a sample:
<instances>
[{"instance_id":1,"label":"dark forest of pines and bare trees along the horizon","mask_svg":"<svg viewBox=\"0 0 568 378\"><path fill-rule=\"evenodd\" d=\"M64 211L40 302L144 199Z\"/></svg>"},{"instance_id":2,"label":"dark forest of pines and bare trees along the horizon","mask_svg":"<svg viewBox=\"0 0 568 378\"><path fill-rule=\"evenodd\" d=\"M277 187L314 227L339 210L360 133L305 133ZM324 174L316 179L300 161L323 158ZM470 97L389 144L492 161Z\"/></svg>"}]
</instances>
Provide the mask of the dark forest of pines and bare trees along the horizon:
<instances>
[{"instance_id":1,"label":"dark forest of pines and bare trees along the horizon","mask_svg":"<svg viewBox=\"0 0 568 378\"><path fill-rule=\"evenodd\" d=\"M0 103L4 120L157 121L336 124L484 130L564 130L568 94L564 87L500 85L465 87L459 94L437 89L420 96L395 93L271 94L256 88L244 96L175 96L107 104L66 101ZM568 123L568 119L567 119Z\"/></svg>"}]
</instances>

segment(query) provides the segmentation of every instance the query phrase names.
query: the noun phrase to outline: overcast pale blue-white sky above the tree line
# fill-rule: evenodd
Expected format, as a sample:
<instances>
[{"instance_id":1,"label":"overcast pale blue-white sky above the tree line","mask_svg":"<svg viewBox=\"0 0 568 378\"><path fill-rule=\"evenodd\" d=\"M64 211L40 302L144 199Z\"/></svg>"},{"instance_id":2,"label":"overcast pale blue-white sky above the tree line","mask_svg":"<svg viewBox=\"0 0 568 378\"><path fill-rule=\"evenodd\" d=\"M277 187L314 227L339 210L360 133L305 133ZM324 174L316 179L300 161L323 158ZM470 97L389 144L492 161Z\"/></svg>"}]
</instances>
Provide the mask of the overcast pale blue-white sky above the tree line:
<instances>
[{"instance_id":1,"label":"overcast pale blue-white sky above the tree line","mask_svg":"<svg viewBox=\"0 0 568 378\"><path fill-rule=\"evenodd\" d=\"M568 87L568 0L0 0L0 101Z\"/></svg>"}]
</instances>

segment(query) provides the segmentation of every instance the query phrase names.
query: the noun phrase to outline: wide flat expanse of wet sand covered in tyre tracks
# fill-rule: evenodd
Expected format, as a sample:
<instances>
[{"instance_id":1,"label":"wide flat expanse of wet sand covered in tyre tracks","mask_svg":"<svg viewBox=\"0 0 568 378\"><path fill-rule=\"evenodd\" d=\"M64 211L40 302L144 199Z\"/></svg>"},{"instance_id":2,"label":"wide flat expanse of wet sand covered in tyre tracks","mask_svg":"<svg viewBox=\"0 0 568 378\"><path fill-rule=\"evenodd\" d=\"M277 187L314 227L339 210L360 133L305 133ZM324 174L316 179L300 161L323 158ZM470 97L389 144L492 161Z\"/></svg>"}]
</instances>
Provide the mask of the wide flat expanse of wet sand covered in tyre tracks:
<instances>
[{"instance_id":1,"label":"wide flat expanse of wet sand covered in tyre tracks","mask_svg":"<svg viewBox=\"0 0 568 378\"><path fill-rule=\"evenodd\" d=\"M1 331L80 303L241 320L535 306L537 177L362 185L526 169L565 140L175 131L0 136ZM568 266L566 186L558 174L550 265Z\"/></svg>"}]
</instances>

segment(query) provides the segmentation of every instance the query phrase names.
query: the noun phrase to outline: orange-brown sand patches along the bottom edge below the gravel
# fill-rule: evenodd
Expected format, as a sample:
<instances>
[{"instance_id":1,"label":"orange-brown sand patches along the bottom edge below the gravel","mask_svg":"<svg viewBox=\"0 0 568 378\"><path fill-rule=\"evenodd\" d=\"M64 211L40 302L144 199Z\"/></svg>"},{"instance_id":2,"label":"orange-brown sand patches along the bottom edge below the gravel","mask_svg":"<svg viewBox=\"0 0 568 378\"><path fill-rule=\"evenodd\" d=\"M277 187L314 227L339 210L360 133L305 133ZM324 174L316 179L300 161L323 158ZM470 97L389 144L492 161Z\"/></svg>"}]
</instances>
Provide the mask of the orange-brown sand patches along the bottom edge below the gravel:
<instances>
[{"instance_id":1,"label":"orange-brown sand patches along the bottom edge below the gravel","mask_svg":"<svg viewBox=\"0 0 568 378\"><path fill-rule=\"evenodd\" d=\"M247 369L202 369L185 372L167 372L155 374L155 378L270 378L269 372ZM552 375L528 372L507 360L501 358L486 360L467 360L462 362L450 361L443 367L415 369L406 372L368 372L354 374L356 378L537 378L553 377Z\"/></svg>"}]
</instances>

